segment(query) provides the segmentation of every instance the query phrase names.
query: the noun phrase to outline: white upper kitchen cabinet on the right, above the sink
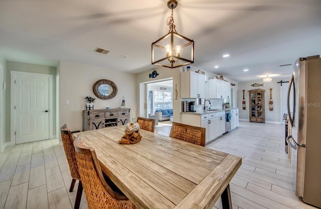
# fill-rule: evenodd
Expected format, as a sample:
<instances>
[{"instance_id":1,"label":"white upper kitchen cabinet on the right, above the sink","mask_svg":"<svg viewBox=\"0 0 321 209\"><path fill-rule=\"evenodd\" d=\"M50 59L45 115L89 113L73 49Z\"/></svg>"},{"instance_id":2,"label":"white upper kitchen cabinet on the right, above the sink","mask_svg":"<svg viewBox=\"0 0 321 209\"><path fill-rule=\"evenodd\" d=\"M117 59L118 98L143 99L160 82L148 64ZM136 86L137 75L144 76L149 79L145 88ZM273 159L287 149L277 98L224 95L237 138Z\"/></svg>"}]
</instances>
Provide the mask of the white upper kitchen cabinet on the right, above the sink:
<instances>
[{"instance_id":1,"label":"white upper kitchen cabinet on the right, above the sink","mask_svg":"<svg viewBox=\"0 0 321 209\"><path fill-rule=\"evenodd\" d=\"M208 80L209 99L230 99L231 83L219 79Z\"/></svg>"}]
</instances>

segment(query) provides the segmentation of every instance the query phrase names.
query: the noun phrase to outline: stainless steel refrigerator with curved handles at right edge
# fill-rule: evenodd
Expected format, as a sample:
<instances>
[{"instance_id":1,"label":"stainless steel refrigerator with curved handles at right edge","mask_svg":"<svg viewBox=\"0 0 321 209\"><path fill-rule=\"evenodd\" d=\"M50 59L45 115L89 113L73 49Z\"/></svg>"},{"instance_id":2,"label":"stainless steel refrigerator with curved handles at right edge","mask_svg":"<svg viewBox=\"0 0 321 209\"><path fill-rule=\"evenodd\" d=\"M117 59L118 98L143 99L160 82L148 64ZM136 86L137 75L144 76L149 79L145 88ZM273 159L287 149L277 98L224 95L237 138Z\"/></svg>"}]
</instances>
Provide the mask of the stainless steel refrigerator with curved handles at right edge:
<instances>
[{"instance_id":1,"label":"stainless steel refrigerator with curved handles at right edge","mask_svg":"<svg viewBox=\"0 0 321 209\"><path fill-rule=\"evenodd\" d=\"M293 94L293 106L289 104ZM292 109L290 109L292 106ZM292 133L287 143L297 150L295 194L321 207L321 59L299 58L293 64L288 89Z\"/></svg>"}]
</instances>

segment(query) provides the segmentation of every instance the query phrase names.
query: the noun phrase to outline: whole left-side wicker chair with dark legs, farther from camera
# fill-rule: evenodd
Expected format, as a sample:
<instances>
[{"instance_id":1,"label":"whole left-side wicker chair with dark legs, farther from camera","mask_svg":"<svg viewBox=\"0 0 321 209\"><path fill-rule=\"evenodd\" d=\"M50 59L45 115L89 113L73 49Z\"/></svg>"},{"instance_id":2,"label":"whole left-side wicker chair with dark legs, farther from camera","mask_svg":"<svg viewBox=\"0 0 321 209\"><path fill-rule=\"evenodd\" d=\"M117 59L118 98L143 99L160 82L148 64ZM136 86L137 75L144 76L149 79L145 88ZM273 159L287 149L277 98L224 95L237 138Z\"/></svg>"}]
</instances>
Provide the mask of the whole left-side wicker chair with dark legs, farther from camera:
<instances>
[{"instance_id":1,"label":"whole left-side wicker chair with dark legs, farther from camera","mask_svg":"<svg viewBox=\"0 0 321 209\"><path fill-rule=\"evenodd\" d=\"M78 172L78 165L77 165L77 161L76 161L75 147L74 147L74 137L73 137L72 133L79 132L79 131L71 132L67 128L67 125L64 124L60 128L60 132L61 132L61 140L62 140L62 143L64 145L67 161L68 161L68 164L69 164L70 174L71 174L71 177L72 177L72 181L71 181L71 185L70 185L69 191L73 191L74 190L74 186L75 186L76 180L79 180L78 189L77 189L77 195L76 195L76 200L75 200L75 206L74 206L74 209L78 209L79 205L80 205L80 200L81 200L81 194L82 194L83 187L82 187L82 183L81 183L81 180L80 180L80 175L79 175L79 172Z\"/></svg>"}]
</instances>

